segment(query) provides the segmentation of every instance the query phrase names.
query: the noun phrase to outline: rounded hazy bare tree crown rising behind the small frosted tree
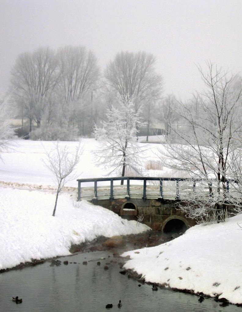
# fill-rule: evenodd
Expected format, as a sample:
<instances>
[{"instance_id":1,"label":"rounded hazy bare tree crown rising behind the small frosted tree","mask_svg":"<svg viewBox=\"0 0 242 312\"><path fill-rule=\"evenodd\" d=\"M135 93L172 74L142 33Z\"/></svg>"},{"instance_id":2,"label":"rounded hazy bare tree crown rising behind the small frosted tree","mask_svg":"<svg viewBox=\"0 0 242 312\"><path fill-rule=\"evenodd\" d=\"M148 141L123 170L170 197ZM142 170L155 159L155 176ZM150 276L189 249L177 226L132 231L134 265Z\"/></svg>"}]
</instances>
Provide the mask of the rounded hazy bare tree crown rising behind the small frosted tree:
<instances>
[{"instance_id":1,"label":"rounded hazy bare tree crown rising behind the small frosted tree","mask_svg":"<svg viewBox=\"0 0 242 312\"><path fill-rule=\"evenodd\" d=\"M121 100L131 100L135 110L145 100L157 100L162 77L155 72L155 57L146 52L120 52L110 61L104 76L110 90L116 90Z\"/></svg>"}]
</instances>

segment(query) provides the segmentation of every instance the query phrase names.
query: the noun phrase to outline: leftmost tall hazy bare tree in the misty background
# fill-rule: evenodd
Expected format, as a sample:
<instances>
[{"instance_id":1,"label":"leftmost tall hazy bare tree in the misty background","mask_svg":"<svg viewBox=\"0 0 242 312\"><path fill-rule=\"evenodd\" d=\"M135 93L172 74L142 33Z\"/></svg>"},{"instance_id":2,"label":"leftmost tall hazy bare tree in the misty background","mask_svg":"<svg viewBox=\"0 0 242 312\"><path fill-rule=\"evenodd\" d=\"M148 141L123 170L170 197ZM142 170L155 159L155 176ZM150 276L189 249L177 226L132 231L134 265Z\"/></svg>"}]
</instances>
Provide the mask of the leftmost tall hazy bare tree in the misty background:
<instances>
[{"instance_id":1,"label":"leftmost tall hazy bare tree in the misty background","mask_svg":"<svg viewBox=\"0 0 242 312\"><path fill-rule=\"evenodd\" d=\"M58 81L56 56L49 48L39 48L17 57L11 71L11 89L30 122L41 125L42 111Z\"/></svg>"}]
</instances>

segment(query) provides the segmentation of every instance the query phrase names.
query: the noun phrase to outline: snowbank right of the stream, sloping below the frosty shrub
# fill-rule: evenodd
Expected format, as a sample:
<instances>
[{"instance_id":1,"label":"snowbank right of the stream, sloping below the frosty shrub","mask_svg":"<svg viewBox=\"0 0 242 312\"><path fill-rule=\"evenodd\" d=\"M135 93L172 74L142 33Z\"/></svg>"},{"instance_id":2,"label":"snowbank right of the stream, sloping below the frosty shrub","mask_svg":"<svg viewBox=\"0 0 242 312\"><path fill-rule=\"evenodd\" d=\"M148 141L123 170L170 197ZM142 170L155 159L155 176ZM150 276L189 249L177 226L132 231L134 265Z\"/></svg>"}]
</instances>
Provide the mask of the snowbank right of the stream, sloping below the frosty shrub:
<instances>
[{"instance_id":1,"label":"snowbank right of the stream, sloping below the frosty shrub","mask_svg":"<svg viewBox=\"0 0 242 312\"><path fill-rule=\"evenodd\" d=\"M231 303L242 303L242 215L225 223L196 225L173 241L125 252L126 269L148 282L203 292ZM166 284L165 284L166 283Z\"/></svg>"}]
</instances>

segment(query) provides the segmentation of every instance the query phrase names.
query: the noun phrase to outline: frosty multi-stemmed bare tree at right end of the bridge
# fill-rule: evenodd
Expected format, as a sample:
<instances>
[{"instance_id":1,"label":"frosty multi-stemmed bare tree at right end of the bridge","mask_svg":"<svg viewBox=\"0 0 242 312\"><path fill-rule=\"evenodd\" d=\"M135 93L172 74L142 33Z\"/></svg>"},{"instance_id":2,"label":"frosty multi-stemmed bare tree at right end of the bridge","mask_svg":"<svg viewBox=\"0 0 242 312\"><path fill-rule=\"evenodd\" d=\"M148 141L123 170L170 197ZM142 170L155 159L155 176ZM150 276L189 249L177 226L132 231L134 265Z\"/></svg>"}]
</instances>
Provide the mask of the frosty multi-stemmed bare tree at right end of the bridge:
<instances>
[{"instance_id":1,"label":"frosty multi-stemmed bare tree at right end of the bridge","mask_svg":"<svg viewBox=\"0 0 242 312\"><path fill-rule=\"evenodd\" d=\"M227 180L235 177L233 154L236 140L241 142L242 88L241 84L235 87L237 76L211 62L207 68L206 72L198 68L204 91L188 104L177 101L179 125L171 125L161 161L197 182L196 192L187 188L187 204L182 209L190 217L204 219L213 210L219 222L227 205L235 202L228 197L226 186ZM198 200L204 189L206 201Z\"/></svg>"}]
</instances>

